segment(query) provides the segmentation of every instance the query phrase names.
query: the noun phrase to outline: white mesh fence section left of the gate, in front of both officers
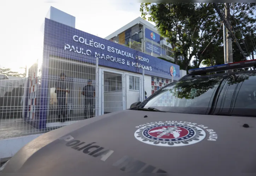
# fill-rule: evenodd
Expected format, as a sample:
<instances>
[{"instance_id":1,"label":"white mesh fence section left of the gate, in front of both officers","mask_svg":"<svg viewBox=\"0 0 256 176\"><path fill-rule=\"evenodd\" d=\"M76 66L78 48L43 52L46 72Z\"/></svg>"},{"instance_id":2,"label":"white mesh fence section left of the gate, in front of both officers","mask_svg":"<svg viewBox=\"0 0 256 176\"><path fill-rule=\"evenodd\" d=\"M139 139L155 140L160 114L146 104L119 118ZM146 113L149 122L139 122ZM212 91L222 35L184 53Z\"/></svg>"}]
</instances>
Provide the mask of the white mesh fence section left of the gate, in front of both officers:
<instances>
[{"instance_id":1,"label":"white mesh fence section left of the gate, in front of both officers","mask_svg":"<svg viewBox=\"0 0 256 176\"><path fill-rule=\"evenodd\" d=\"M97 59L88 56L78 62L74 60L80 51L72 59L65 52L45 46L42 63L29 69L28 78L0 80L0 139L48 132L97 116Z\"/></svg>"}]
</instances>

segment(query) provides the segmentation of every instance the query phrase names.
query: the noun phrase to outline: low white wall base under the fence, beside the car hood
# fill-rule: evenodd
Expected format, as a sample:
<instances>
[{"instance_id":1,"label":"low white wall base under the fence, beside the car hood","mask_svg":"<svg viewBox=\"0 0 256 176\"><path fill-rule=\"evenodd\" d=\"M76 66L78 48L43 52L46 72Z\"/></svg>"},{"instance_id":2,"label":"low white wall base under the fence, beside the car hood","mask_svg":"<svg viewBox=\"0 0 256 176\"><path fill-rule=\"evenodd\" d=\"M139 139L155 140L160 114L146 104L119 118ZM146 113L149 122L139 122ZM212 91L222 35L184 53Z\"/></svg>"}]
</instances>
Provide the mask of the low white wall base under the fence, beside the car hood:
<instances>
[{"instance_id":1,"label":"low white wall base under the fence, beside the car hood","mask_svg":"<svg viewBox=\"0 0 256 176\"><path fill-rule=\"evenodd\" d=\"M12 157L17 153L24 145L34 140L42 134L34 134L29 136L22 136L18 138L9 138L0 140L0 159Z\"/></svg>"}]
</instances>

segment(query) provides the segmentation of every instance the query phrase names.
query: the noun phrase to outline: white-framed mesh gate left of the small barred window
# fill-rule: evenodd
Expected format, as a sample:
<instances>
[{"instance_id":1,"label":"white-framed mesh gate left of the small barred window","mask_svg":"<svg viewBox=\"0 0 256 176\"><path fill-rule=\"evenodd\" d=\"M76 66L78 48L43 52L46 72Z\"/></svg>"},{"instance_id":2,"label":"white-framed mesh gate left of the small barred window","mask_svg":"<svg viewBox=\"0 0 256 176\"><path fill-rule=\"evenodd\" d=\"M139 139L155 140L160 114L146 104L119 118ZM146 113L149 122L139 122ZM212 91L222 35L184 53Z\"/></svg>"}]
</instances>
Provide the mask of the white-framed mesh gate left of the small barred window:
<instances>
[{"instance_id":1,"label":"white-framed mesh gate left of the small barred window","mask_svg":"<svg viewBox=\"0 0 256 176\"><path fill-rule=\"evenodd\" d=\"M103 69L101 114L124 110L123 73Z\"/></svg>"}]
</instances>

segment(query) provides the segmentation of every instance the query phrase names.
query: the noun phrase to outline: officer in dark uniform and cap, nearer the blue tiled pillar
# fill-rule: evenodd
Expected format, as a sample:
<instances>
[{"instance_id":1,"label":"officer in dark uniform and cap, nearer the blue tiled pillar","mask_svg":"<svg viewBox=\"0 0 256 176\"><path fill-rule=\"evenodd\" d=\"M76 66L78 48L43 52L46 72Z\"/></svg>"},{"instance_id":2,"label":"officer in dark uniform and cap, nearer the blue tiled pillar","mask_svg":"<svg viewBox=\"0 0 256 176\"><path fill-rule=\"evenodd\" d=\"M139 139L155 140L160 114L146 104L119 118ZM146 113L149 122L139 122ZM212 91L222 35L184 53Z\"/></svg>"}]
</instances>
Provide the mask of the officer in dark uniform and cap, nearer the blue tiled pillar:
<instances>
[{"instance_id":1,"label":"officer in dark uniform and cap, nearer the blue tiled pillar","mask_svg":"<svg viewBox=\"0 0 256 176\"><path fill-rule=\"evenodd\" d=\"M66 92L69 93L70 91L67 90L65 77L66 75L61 73L60 78L55 83L55 93L57 93L58 100L58 122L65 122L69 120L69 118L66 117ZM62 118L60 117L61 115L63 116Z\"/></svg>"}]
</instances>

